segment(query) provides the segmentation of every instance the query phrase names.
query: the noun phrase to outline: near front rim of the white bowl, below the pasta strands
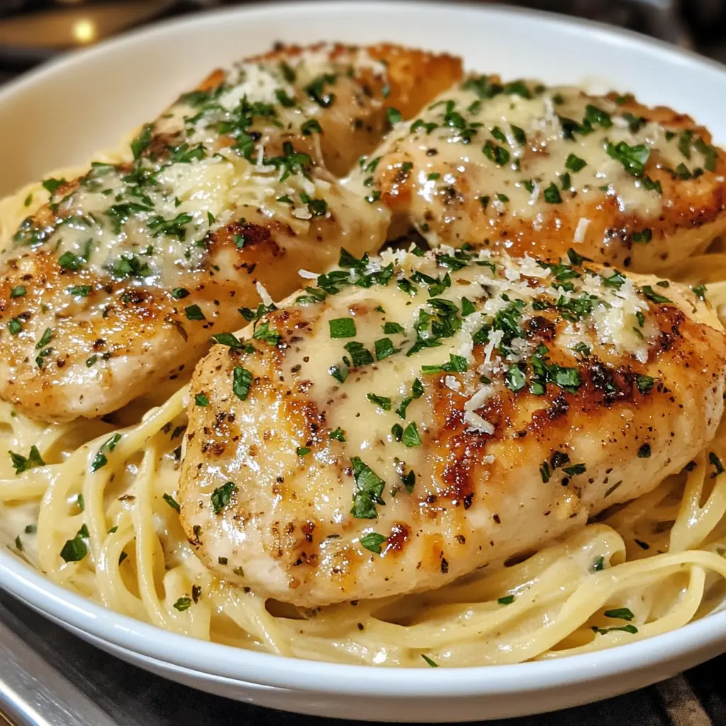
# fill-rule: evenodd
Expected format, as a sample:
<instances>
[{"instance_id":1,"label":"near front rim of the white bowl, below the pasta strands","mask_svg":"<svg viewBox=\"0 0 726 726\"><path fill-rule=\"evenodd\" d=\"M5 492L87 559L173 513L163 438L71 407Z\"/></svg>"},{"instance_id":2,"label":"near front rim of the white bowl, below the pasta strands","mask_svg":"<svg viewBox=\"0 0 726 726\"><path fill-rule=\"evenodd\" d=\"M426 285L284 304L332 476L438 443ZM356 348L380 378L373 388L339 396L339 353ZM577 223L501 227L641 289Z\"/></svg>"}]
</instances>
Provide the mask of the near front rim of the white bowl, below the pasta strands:
<instances>
[{"instance_id":1,"label":"near front rim of the white bowl, below the pasta strands","mask_svg":"<svg viewBox=\"0 0 726 726\"><path fill-rule=\"evenodd\" d=\"M637 672L714 644L726 651L726 611L719 611L635 643L542 661L444 668L338 664L235 648L161 629L65 590L9 552L0 552L0 587L52 619L157 662L214 679L335 696L452 698L532 693Z\"/></svg>"}]
</instances>

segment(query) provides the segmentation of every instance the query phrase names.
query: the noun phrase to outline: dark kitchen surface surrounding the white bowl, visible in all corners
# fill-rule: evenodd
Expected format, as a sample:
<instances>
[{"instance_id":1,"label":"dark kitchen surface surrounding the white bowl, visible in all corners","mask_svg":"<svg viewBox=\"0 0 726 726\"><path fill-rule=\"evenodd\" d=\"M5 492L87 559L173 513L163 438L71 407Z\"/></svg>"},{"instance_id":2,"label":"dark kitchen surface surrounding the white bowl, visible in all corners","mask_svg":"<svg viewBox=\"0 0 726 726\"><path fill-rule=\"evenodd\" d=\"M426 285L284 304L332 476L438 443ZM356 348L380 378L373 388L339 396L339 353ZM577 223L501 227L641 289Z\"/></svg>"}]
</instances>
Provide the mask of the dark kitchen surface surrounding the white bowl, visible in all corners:
<instances>
[{"instance_id":1,"label":"dark kitchen surface surrounding the white bowl, visible in all corners","mask_svg":"<svg viewBox=\"0 0 726 726\"><path fill-rule=\"evenodd\" d=\"M136 27L150 20L174 17L203 8L234 4L215 0L0 0L0 83L9 81L38 60L52 57L64 45L86 44L94 38ZM518 2L556 12L639 30L667 41L696 48L726 62L726 0L540 0ZM113 23L83 25L84 17L102 17L126 6ZM76 12L66 24L65 36L38 32L49 14ZM80 15L78 15L80 13ZM37 14L33 17L32 14ZM57 20L57 15L52 15ZM78 25L78 21L81 25ZM55 22L55 21L54 21ZM55 26L56 28L59 26ZM18 30L20 28L20 30ZM69 30L70 28L70 30ZM73 28L75 28L75 35ZM29 30L28 30L29 29ZM15 38L15 41L11 42ZM28 44L28 38L32 43ZM13 44L15 43L15 45ZM0 704L12 690L3 678L13 670L3 646L23 653L25 664L35 665L30 677L40 677L49 697L62 700L67 709L56 720L20 719L26 724L59 726L106 724L119 726L275 726L343 725L333 719L314 719L247 706L198 693L168 682L134 666L123 664L60 627L24 608L0 592ZM52 664L49 665L49 664ZM5 667L5 671L3 668ZM13 671L17 676L17 669ZM645 690L608 701L539 717L494 722L500 726L726 726L726 655L685 674ZM57 691L56 691L57 689ZM43 690L38 688L38 690ZM58 695L62 693L62 698ZM0 708L0 724L4 724Z\"/></svg>"}]
</instances>

